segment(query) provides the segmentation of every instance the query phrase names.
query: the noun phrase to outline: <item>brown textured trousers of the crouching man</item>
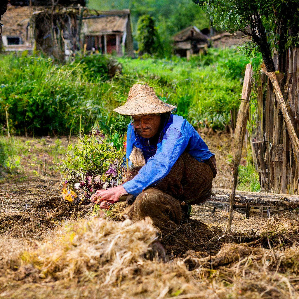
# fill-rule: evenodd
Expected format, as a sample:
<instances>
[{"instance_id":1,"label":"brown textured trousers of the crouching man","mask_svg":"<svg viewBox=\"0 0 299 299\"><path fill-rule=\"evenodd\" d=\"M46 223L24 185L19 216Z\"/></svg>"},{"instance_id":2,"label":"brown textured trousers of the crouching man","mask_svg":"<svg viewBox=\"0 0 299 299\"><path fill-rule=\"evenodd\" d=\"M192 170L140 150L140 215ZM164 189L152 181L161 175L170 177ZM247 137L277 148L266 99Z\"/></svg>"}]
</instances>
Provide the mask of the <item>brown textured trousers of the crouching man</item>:
<instances>
[{"instance_id":1,"label":"brown textured trousers of the crouching man","mask_svg":"<svg viewBox=\"0 0 299 299\"><path fill-rule=\"evenodd\" d=\"M137 172L132 170L132 177ZM162 235L168 234L182 221L181 202L205 202L211 194L212 181L211 167L184 152L161 182L136 197L126 214L133 222L149 217Z\"/></svg>"}]
</instances>

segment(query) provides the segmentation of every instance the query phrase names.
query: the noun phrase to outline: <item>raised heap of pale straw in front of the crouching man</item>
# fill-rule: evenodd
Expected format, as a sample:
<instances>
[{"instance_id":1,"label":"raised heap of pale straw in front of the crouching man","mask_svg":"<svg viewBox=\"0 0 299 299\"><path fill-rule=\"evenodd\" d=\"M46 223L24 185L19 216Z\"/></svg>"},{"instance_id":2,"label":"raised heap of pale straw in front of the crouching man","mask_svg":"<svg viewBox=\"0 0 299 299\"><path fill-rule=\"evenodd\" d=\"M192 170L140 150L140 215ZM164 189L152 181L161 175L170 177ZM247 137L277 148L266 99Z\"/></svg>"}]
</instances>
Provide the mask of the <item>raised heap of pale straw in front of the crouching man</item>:
<instances>
[{"instance_id":1,"label":"raised heap of pale straw in front of the crouching man","mask_svg":"<svg viewBox=\"0 0 299 299\"><path fill-rule=\"evenodd\" d=\"M41 278L85 281L97 276L104 284L115 283L130 265L142 261L156 238L157 231L144 223L93 218L65 226L56 241L24 253L22 260L39 269Z\"/></svg>"}]
</instances>

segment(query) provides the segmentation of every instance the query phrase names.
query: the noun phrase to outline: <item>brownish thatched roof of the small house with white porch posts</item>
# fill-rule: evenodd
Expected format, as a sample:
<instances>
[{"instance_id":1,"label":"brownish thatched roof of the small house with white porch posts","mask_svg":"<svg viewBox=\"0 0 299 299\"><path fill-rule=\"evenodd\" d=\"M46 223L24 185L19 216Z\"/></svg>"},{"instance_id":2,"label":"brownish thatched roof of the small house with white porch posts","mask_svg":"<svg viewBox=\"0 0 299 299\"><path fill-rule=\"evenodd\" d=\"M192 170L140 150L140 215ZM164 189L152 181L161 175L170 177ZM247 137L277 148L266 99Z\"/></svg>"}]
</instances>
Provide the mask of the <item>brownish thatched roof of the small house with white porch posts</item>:
<instances>
[{"instance_id":1,"label":"brownish thatched roof of the small house with white porch posts","mask_svg":"<svg viewBox=\"0 0 299 299\"><path fill-rule=\"evenodd\" d=\"M97 11L96 13L96 15L83 17L83 33L98 35L126 31L130 10Z\"/></svg>"}]
</instances>

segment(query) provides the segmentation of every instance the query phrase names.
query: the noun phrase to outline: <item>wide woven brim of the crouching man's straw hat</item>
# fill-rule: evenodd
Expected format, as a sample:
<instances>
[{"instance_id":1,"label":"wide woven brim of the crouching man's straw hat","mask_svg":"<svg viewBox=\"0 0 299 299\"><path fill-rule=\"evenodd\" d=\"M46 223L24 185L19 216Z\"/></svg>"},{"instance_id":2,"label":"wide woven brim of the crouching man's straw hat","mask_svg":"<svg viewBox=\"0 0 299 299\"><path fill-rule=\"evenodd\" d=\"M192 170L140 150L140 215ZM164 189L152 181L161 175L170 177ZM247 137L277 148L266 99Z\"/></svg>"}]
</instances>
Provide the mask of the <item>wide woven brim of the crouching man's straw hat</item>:
<instances>
[{"instance_id":1,"label":"wide woven brim of the crouching man's straw hat","mask_svg":"<svg viewBox=\"0 0 299 299\"><path fill-rule=\"evenodd\" d=\"M176 106L170 105L168 103L164 103L161 101L160 105L154 105L151 103L138 103L134 105L134 103L125 103L123 106L115 108L113 111L121 114L121 115L145 115L145 114L160 114L173 112L176 110Z\"/></svg>"}]
</instances>

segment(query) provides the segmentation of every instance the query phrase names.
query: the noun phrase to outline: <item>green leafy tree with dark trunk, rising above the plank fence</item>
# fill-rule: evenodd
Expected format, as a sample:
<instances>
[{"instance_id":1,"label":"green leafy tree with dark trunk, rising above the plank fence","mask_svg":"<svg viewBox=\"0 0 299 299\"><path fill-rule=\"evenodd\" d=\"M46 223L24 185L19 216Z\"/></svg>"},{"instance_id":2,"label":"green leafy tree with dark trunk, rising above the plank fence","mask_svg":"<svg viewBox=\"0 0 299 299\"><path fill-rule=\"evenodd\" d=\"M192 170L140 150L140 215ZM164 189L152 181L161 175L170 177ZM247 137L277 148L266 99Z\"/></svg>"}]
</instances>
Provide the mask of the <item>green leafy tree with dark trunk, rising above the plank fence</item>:
<instances>
[{"instance_id":1,"label":"green leafy tree with dark trunk, rising above the plank fence","mask_svg":"<svg viewBox=\"0 0 299 299\"><path fill-rule=\"evenodd\" d=\"M240 30L260 47L266 68L274 71L271 49L279 60L291 43L298 42L298 0L193 0L222 30Z\"/></svg>"}]
</instances>

